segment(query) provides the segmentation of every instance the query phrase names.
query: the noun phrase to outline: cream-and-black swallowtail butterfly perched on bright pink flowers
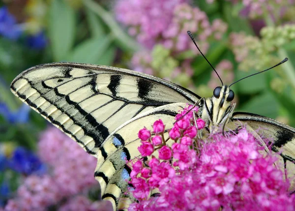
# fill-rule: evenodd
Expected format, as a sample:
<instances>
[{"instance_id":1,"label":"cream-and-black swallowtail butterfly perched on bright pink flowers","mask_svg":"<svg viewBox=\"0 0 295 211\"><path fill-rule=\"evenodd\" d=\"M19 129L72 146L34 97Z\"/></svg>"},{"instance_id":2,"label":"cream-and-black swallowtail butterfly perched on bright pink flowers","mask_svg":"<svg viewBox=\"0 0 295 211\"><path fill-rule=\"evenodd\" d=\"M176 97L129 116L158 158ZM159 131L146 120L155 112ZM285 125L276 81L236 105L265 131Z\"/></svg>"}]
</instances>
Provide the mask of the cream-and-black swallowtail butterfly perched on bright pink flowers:
<instances>
[{"instance_id":1,"label":"cream-and-black swallowtail butterfly perched on bright pink flowers","mask_svg":"<svg viewBox=\"0 0 295 211\"><path fill-rule=\"evenodd\" d=\"M175 116L187 103L198 104L207 132L220 125L235 129L244 122L258 138L272 137L271 150L280 153L278 162L287 169L286 177L295 176L295 128L256 114L234 113L235 94L226 85L215 88L212 97L205 99L145 73L57 62L22 72L12 82L11 91L97 158L94 177L102 199L109 200L114 210L130 203L120 198L125 196L131 171L125 160L140 155L138 131L159 119L167 129L172 128ZM295 190L295 182L291 189Z\"/></svg>"}]
</instances>

